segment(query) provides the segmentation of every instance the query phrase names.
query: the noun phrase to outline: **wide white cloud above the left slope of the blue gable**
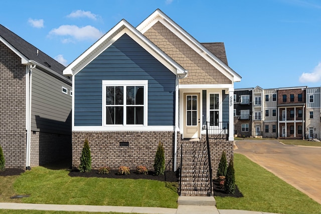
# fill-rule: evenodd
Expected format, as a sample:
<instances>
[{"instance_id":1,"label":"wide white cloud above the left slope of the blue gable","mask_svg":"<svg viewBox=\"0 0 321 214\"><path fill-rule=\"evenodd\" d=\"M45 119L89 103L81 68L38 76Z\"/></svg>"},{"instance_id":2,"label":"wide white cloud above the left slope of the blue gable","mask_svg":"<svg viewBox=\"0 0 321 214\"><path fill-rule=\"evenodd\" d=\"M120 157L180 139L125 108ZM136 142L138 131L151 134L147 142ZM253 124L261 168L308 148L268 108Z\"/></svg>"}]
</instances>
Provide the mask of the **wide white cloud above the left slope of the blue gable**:
<instances>
[{"instance_id":1,"label":"wide white cloud above the left slope of the blue gable","mask_svg":"<svg viewBox=\"0 0 321 214\"><path fill-rule=\"evenodd\" d=\"M62 25L49 32L49 36L61 36L63 43L83 41L83 40L97 40L103 35L95 27L87 25L85 27L78 27L75 25Z\"/></svg>"}]
</instances>

